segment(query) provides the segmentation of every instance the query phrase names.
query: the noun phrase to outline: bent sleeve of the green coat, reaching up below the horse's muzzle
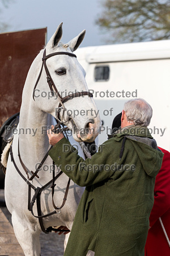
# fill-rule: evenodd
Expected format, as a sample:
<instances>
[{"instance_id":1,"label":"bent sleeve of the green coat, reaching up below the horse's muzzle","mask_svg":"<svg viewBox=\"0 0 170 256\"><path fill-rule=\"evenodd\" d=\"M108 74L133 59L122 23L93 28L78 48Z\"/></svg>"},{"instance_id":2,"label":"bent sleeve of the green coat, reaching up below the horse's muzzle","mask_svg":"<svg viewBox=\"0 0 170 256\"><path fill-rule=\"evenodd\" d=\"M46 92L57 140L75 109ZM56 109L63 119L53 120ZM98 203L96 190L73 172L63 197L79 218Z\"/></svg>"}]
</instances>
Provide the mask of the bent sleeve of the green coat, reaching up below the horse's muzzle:
<instances>
[{"instance_id":1,"label":"bent sleeve of the green coat, reaching up below the horse's muzzle","mask_svg":"<svg viewBox=\"0 0 170 256\"><path fill-rule=\"evenodd\" d=\"M107 142L106 142L107 144ZM103 144L99 151L84 160L66 138L62 138L50 151L54 163L76 184L85 187L104 181L113 175L108 163L113 163L111 150Z\"/></svg>"}]
</instances>

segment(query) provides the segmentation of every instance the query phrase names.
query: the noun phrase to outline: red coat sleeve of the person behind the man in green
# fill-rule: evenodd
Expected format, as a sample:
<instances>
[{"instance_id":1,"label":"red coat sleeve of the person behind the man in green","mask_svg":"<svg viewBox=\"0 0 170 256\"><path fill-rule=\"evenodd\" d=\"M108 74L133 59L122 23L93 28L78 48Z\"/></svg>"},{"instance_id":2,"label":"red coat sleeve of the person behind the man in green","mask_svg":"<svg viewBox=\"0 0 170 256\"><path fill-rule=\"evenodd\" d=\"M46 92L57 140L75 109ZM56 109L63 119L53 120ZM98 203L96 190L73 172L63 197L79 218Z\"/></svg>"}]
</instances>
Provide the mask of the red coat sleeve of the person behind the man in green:
<instances>
[{"instance_id":1,"label":"red coat sleeve of the person behind the man in green","mask_svg":"<svg viewBox=\"0 0 170 256\"><path fill-rule=\"evenodd\" d=\"M160 148L164 153L162 167L155 180L154 206L150 214L150 226L170 208L170 153Z\"/></svg>"}]
</instances>

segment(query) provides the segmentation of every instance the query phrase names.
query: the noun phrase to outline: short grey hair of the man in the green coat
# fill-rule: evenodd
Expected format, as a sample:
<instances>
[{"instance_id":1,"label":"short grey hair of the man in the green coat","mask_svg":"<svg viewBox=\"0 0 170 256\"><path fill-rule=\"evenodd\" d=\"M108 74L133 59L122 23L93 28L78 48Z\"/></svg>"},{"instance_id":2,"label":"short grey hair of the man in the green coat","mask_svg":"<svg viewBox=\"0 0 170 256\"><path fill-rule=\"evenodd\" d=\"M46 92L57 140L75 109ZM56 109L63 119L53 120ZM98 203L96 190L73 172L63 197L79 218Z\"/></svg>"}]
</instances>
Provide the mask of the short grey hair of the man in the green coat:
<instances>
[{"instance_id":1,"label":"short grey hair of the man in the green coat","mask_svg":"<svg viewBox=\"0 0 170 256\"><path fill-rule=\"evenodd\" d=\"M148 126L152 117L151 106L142 98L129 100L124 104L128 122L134 125Z\"/></svg>"}]
</instances>

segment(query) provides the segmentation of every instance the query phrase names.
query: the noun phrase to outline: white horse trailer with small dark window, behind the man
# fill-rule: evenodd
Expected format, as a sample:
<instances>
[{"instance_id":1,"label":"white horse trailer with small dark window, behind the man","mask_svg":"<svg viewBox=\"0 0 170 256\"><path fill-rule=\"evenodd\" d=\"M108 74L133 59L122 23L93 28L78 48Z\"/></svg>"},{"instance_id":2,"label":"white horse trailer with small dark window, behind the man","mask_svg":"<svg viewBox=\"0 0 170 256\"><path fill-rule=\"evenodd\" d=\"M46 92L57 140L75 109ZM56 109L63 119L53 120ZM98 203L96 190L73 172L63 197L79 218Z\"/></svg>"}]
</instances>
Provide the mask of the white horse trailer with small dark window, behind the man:
<instances>
[{"instance_id":1,"label":"white horse trailer with small dark window, behind the man","mask_svg":"<svg viewBox=\"0 0 170 256\"><path fill-rule=\"evenodd\" d=\"M99 144L107 140L124 103L143 98L153 109L150 132L169 151L170 40L83 47L75 54L103 121Z\"/></svg>"}]
</instances>

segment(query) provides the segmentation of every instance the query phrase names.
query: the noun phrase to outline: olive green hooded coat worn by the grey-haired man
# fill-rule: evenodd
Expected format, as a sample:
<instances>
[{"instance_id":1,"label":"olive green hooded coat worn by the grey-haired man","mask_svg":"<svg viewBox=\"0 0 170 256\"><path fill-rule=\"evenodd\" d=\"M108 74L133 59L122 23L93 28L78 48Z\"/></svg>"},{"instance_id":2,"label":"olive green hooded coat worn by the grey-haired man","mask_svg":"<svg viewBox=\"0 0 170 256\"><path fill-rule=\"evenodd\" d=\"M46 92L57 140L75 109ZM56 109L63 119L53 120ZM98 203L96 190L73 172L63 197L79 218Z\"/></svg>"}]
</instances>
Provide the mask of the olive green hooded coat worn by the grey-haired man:
<instances>
[{"instance_id":1,"label":"olive green hooded coat worn by the grey-haired man","mask_svg":"<svg viewBox=\"0 0 170 256\"><path fill-rule=\"evenodd\" d=\"M66 138L49 151L67 176L86 186L64 255L144 255L163 153L147 127L129 126L111 137L91 159L80 158Z\"/></svg>"}]
</instances>

